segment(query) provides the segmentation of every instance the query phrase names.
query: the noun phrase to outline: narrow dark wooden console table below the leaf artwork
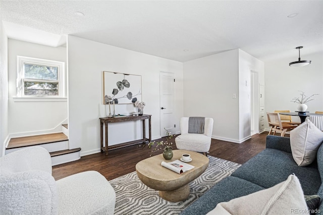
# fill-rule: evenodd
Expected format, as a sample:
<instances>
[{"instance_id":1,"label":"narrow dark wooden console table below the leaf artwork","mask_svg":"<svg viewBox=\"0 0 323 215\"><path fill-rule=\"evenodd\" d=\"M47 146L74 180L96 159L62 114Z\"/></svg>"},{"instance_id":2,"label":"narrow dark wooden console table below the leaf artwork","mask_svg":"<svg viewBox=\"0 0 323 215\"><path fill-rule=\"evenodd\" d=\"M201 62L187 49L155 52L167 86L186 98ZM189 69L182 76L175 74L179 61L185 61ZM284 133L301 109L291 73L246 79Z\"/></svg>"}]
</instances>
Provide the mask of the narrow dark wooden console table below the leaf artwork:
<instances>
[{"instance_id":1,"label":"narrow dark wooden console table below the leaf artwork","mask_svg":"<svg viewBox=\"0 0 323 215\"><path fill-rule=\"evenodd\" d=\"M146 119L148 119L148 124L149 124L149 138L146 138ZM107 125L109 123L121 123L121 122L129 122L129 121L137 121L137 120L142 120L142 139L139 140L134 140L130 142L125 142L125 143L120 143L117 145L112 145L109 147L108 141L107 141ZM125 146L129 145L134 145L137 143L144 143L146 141L151 141L151 115L142 115L142 116L127 116L127 117L104 117L100 118L100 124L101 124L101 129L100 129L100 136L101 136L101 152L105 151L105 155L108 154L107 150L108 149L116 149L116 148L122 148ZM104 142L105 146L103 147L103 124L104 124Z\"/></svg>"}]
</instances>

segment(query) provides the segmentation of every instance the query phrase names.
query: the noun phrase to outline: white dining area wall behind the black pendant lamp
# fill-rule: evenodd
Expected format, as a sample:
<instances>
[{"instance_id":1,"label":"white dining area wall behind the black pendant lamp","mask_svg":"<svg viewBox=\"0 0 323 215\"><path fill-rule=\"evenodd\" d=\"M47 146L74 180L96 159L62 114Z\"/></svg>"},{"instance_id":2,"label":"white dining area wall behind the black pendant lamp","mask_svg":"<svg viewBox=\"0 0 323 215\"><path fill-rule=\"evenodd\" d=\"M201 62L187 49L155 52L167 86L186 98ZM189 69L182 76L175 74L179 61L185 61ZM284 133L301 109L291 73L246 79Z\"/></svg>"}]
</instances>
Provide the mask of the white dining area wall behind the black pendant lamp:
<instances>
[{"instance_id":1,"label":"white dining area wall behind the black pendant lamp","mask_svg":"<svg viewBox=\"0 0 323 215\"><path fill-rule=\"evenodd\" d=\"M265 62L265 111L275 110L297 111L297 103L291 102L294 97L299 97L301 90L306 95L314 96L307 104L307 111L323 111L323 52L302 54L302 60L310 60L312 63L304 67L290 67L289 63L297 60L293 57L282 57ZM299 117L293 117L293 121L300 122ZM269 129L266 121L266 129Z\"/></svg>"}]
</instances>

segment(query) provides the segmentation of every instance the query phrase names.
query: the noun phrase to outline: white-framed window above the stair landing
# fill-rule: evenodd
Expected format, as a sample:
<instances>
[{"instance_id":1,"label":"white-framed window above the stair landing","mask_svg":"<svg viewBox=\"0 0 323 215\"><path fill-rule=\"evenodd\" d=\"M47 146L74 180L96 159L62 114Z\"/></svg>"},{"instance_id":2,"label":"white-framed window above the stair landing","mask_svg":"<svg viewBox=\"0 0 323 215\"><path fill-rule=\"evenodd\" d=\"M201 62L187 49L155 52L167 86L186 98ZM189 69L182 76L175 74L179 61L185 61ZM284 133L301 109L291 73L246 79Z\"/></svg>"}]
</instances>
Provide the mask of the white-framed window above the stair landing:
<instances>
[{"instance_id":1,"label":"white-framed window above the stair landing","mask_svg":"<svg viewBox=\"0 0 323 215\"><path fill-rule=\"evenodd\" d=\"M65 63L17 57L18 97L65 97Z\"/></svg>"}]
</instances>

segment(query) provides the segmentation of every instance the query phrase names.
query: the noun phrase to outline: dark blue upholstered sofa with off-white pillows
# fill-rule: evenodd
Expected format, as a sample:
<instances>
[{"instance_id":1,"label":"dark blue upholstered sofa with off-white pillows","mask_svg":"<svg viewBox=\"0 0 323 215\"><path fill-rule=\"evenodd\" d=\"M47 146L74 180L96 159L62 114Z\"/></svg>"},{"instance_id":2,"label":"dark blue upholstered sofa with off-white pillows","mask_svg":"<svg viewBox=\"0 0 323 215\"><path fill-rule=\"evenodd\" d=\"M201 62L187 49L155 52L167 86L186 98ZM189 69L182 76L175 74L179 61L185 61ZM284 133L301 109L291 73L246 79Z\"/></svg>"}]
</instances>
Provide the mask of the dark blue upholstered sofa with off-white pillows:
<instances>
[{"instance_id":1,"label":"dark blue upholstered sofa with off-white pillows","mask_svg":"<svg viewBox=\"0 0 323 215\"><path fill-rule=\"evenodd\" d=\"M206 214L220 202L270 188L295 174L304 195L323 196L323 144L317 151L316 160L307 167L295 163L288 137L268 135L266 148L238 168L231 176L214 185L204 195L193 202L181 215ZM322 200L319 205L323 214Z\"/></svg>"}]
</instances>

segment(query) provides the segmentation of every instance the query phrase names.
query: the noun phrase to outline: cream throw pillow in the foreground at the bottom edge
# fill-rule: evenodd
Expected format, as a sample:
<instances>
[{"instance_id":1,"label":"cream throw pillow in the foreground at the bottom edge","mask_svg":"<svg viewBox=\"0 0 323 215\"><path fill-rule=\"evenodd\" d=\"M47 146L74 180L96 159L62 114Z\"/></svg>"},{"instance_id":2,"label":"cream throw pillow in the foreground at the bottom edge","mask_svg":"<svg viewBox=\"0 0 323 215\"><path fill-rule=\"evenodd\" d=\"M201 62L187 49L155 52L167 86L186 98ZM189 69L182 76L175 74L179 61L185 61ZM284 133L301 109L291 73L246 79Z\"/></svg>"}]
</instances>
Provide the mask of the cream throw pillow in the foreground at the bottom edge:
<instances>
[{"instance_id":1,"label":"cream throw pillow in the foreground at the bottom edge","mask_svg":"<svg viewBox=\"0 0 323 215\"><path fill-rule=\"evenodd\" d=\"M211 214L309 214L302 187L295 175L274 187L219 203Z\"/></svg>"}]
</instances>

